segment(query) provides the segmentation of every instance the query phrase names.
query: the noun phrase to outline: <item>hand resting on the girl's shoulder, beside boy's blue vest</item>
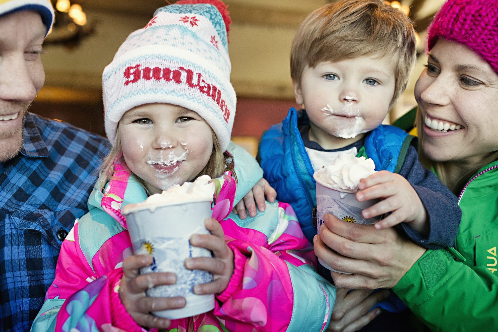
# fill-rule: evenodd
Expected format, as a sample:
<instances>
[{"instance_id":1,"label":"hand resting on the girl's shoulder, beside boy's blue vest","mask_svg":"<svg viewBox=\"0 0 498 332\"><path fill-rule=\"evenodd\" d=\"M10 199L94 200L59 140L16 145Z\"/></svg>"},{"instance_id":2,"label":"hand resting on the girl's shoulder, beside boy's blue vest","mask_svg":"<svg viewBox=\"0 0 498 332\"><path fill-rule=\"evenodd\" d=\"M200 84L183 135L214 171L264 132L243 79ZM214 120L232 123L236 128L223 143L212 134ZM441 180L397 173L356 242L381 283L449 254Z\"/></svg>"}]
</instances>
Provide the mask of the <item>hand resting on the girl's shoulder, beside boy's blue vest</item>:
<instances>
[{"instance_id":1,"label":"hand resting on the girl's shoulder, beside boy's blue vest","mask_svg":"<svg viewBox=\"0 0 498 332\"><path fill-rule=\"evenodd\" d=\"M259 181L254 184L252 189L248 192L243 199L240 200L239 203L232 210L235 214L239 215L239 218L246 219L247 213L246 209L249 212L249 216L256 216L256 205L259 212L263 212L266 208L266 204L264 202L264 197L268 202L273 203L275 198L277 197L277 192L275 189L271 187L271 185L264 178L261 178Z\"/></svg>"}]
</instances>

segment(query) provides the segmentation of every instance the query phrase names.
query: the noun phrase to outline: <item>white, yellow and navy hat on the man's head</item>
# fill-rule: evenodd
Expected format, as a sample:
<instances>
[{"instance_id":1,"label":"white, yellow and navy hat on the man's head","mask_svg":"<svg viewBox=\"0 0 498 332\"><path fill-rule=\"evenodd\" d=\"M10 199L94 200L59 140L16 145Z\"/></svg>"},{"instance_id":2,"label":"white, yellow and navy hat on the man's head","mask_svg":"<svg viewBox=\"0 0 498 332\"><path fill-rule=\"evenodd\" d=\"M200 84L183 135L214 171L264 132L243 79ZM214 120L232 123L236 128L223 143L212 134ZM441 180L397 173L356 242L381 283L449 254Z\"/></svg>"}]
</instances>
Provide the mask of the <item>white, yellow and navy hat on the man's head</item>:
<instances>
[{"instance_id":1,"label":"white, yellow and navy hat on the man's head","mask_svg":"<svg viewBox=\"0 0 498 332\"><path fill-rule=\"evenodd\" d=\"M48 31L54 23L54 8L50 0L0 0L0 16L20 10L34 10L40 13L41 21Z\"/></svg>"}]
</instances>

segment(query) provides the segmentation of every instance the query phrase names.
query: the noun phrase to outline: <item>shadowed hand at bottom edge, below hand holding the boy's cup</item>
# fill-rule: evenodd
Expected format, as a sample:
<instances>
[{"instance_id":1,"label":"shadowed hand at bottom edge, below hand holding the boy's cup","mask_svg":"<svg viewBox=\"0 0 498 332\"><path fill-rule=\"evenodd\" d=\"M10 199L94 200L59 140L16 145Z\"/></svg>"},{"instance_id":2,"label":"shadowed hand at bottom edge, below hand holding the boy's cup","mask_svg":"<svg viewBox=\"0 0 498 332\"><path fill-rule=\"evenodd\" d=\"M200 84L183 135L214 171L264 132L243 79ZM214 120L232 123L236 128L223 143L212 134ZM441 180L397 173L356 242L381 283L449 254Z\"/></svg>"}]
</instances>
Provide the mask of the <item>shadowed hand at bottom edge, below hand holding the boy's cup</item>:
<instances>
[{"instance_id":1,"label":"shadowed hand at bottom edge, below hand holding the boy's cup","mask_svg":"<svg viewBox=\"0 0 498 332\"><path fill-rule=\"evenodd\" d=\"M380 314L374 305L389 297L390 292L382 290L373 293L371 290L337 289L336 302L327 331L354 332L359 331Z\"/></svg>"}]
</instances>

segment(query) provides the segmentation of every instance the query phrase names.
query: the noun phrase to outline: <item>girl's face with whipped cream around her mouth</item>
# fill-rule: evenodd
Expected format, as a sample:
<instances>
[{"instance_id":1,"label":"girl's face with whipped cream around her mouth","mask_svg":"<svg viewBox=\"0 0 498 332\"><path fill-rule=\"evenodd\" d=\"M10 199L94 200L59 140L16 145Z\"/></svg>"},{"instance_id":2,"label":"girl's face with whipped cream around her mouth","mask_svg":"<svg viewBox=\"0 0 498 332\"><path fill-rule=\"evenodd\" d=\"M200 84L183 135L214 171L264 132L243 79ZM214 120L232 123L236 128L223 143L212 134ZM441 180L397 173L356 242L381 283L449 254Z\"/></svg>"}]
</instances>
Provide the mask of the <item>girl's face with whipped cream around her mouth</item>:
<instances>
[{"instance_id":1,"label":"girl's face with whipped cream around her mouth","mask_svg":"<svg viewBox=\"0 0 498 332\"><path fill-rule=\"evenodd\" d=\"M120 126L124 161L151 193L192 181L211 157L211 127L181 106L141 105L127 111Z\"/></svg>"}]
</instances>

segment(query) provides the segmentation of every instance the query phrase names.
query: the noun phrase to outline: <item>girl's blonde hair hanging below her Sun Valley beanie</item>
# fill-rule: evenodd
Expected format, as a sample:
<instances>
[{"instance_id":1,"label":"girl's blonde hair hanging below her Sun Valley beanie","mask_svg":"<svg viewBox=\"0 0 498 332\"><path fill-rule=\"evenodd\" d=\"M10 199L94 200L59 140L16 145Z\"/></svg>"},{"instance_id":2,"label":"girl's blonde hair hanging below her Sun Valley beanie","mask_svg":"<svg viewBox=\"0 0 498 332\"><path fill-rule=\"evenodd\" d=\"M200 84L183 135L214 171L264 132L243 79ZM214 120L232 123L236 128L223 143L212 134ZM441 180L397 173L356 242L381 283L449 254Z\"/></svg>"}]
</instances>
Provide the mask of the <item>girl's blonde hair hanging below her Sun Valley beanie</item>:
<instances>
[{"instance_id":1,"label":"girl's blonde hair hanging below her Sun Valley beanie","mask_svg":"<svg viewBox=\"0 0 498 332\"><path fill-rule=\"evenodd\" d=\"M218 138L216 137L213 129L211 129L211 134L213 135L213 151L211 152L211 157L206 166L204 166L204 168L200 171L196 178L204 174L211 176L211 178L217 178L223 175L223 173L225 173L226 171L230 170L232 172L232 176L237 181L234 159L232 158L232 155L230 155L228 151L221 150L220 143L218 142ZM104 187L109 180L119 179L114 176L115 166L117 163L122 163L124 165L124 168L132 173L128 166L126 166L126 163L123 159L123 149L121 146L121 122L118 124L118 130L116 132L116 138L114 139L114 144L111 152L102 162L101 170L99 172L97 183L99 183L99 188L101 191L104 191ZM150 195L150 192L147 190L147 187L145 185L145 181L136 175L135 177L140 185L145 189L147 195Z\"/></svg>"}]
</instances>

